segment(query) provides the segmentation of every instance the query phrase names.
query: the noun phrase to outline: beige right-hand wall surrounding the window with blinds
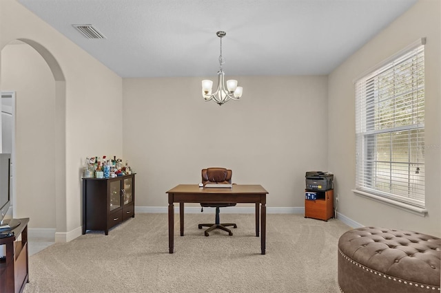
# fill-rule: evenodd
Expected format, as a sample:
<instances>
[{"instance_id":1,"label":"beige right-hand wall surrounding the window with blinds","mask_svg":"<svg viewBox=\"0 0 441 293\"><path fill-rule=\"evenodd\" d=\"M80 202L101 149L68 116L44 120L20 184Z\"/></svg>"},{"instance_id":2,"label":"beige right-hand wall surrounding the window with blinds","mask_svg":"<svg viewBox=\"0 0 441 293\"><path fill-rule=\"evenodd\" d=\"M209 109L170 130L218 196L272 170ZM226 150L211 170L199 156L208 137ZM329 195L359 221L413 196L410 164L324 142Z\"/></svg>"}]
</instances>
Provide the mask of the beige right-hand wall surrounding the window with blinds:
<instances>
[{"instance_id":1,"label":"beige right-hand wall surrounding the window with blinds","mask_svg":"<svg viewBox=\"0 0 441 293\"><path fill-rule=\"evenodd\" d=\"M329 75L329 169L337 174L338 211L363 226L387 226L441 235L440 1L422 0ZM426 217L355 195L353 79L421 37L425 47Z\"/></svg>"}]
</instances>

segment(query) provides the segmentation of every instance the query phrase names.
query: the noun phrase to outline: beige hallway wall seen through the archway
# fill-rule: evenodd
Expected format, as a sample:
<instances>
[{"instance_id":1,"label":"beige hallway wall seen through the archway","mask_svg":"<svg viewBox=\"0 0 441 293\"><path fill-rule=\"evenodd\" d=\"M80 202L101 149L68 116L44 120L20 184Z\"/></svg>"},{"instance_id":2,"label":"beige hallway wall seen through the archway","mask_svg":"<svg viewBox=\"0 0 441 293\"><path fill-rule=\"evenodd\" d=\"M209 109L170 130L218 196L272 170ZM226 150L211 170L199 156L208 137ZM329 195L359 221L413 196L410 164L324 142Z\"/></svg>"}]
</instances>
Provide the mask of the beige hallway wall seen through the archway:
<instances>
[{"instance_id":1,"label":"beige hallway wall seen through the archway","mask_svg":"<svg viewBox=\"0 0 441 293\"><path fill-rule=\"evenodd\" d=\"M17 197L14 217L30 217L34 227L55 228L55 213L41 217L42 210L55 210L54 77L38 52L19 41L1 51L1 76L1 88L17 95L15 189L18 195L30 195Z\"/></svg>"}]
</instances>

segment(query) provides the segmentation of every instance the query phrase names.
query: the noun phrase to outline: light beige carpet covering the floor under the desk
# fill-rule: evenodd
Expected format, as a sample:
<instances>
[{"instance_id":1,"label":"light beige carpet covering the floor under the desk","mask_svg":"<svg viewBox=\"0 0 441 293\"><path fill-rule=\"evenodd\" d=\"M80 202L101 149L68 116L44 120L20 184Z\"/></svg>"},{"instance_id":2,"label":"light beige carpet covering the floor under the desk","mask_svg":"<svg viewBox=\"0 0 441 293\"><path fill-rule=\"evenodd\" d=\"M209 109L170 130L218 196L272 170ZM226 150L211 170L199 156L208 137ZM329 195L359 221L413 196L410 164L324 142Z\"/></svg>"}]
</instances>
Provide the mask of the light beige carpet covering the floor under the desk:
<instances>
[{"instance_id":1,"label":"light beige carpet covering the floor under the desk","mask_svg":"<svg viewBox=\"0 0 441 293\"><path fill-rule=\"evenodd\" d=\"M267 254L260 254L254 215L223 214L234 235L205 237L186 214L185 236L175 215L174 254L168 253L167 214L137 214L105 236L90 231L29 259L30 292L340 292L338 238L351 228L337 219L267 215Z\"/></svg>"}]
</instances>

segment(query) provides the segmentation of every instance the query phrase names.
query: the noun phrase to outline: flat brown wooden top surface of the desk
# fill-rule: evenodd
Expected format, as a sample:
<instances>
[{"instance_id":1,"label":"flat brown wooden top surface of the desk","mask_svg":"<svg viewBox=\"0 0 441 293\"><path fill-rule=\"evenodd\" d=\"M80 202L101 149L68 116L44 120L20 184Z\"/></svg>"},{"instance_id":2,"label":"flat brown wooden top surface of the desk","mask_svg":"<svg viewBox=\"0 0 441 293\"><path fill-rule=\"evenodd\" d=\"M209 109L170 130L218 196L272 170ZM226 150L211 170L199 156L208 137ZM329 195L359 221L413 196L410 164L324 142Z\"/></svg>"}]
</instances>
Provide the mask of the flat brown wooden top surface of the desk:
<instances>
[{"instance_id":1,"label":"flat brown wooden top surface of the desk","mask_svg":"<svg viewBox=\"0 0 441 293\"><path fill-rule=\"evenodd\" d=\"M268 191L259 184L233 184L232 188L203 188L198 184L179 184L166 193L268 194Z\"/></svg>"}]
</instances>

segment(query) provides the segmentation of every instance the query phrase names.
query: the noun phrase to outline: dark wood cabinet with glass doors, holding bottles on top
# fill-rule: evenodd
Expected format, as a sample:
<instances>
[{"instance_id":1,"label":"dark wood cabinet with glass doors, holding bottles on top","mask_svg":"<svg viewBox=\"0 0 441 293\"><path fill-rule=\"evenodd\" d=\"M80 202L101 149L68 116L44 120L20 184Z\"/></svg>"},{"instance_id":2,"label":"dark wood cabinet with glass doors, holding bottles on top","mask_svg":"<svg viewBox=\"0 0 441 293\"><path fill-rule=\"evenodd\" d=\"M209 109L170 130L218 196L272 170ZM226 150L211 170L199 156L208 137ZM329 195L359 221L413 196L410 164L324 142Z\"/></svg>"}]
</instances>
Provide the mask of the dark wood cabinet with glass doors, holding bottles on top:
<instances>
[{"instance_id":1,"label":"dark wood cabinet with glass doors, holding bottles on top","mask_svg":"<svg viewBox=\"0 0 441 293\"><path fill-rule=\"evenodd\" d=\"M135 174L83 178L83 234L104 230L135 216Z\"/></svg>"}]
</instances>

